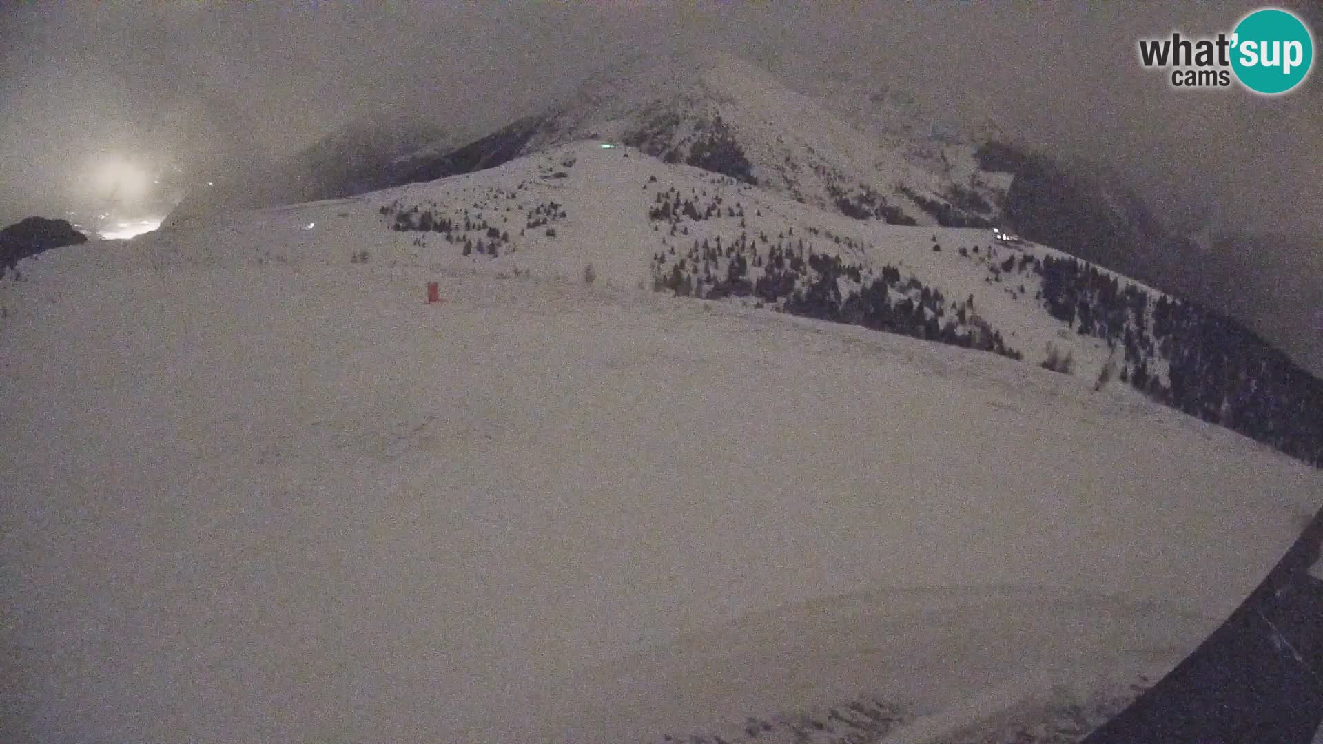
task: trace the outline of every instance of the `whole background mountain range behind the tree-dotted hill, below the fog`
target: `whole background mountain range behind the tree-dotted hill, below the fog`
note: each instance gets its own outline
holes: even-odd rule
[[[722,52],[648,52],[607,66],[570,99],[482,136],[445,120],[380,110],[287,163],[254,167],[202,189],[167,224],[430,181],[598,136],[859,218],[1011,226],[1263,327],[1266,306],[1250,299],[1256,293],[1241,291],[1237,278],[1253,273],[1253,252],[1220,252],[1216,267],[1204,269],[1209,262],[1197,220],[1167,224],[1170,216],[1159,218],[1123,175],[1011,144],[1015,138],[991,122],[963,131],[867,70],[800,78],[796,93]],[[1236,257],[1246,270],[1233,266]],[[1310,290],[1301,286],[1294,294]],[[1308,327],[1299,323],[1273,338],[1307,355],[1316,346]]]

